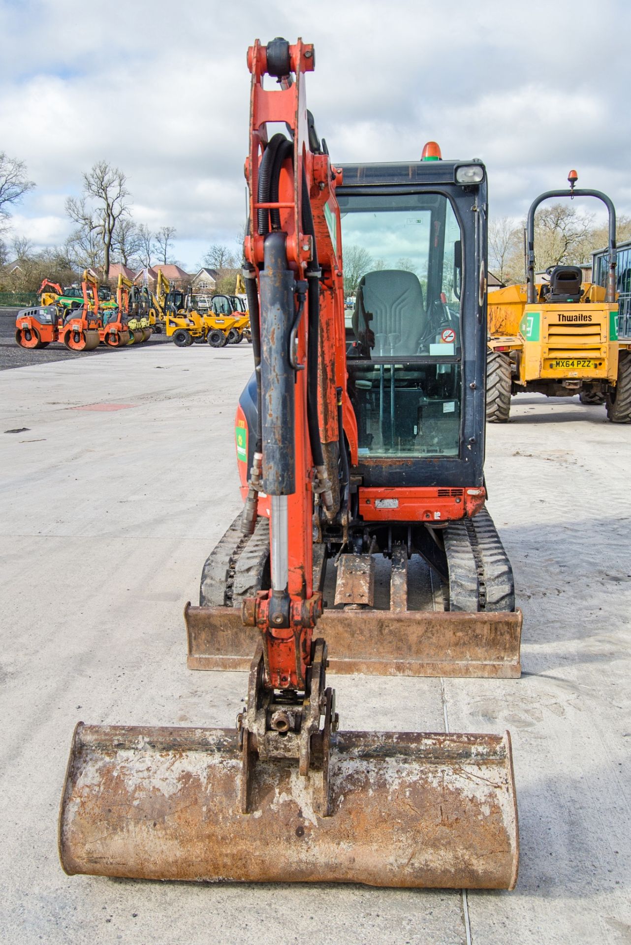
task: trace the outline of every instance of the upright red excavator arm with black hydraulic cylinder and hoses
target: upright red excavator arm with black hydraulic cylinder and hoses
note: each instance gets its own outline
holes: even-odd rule
[[[339,441],[336,412],[328,406],[336,403],[331,388],[338,378],[342,385],[345,369],[343,346],[335,345],[342,272],[334,184],[341,175],[327,154],[311,147],[316,139],[309,136],[303,76],[314,68],[313,46],[255,43],[248,65],[245,275],[262,421],[244,523],[251,530],[258,491],[270,496],[272,587],[247,601],[244,618],[262,633],[264,685],[300,692],[307,685],[322,612],[321,594],[313,588],[312,520],[339,512],[332,487],[337,455],[330,451],[328,470],[323,441]],[[264,89],[265,74],[277,78],[281,94]],[[268,122],[284,123],[289,137],[276,134],[268,141]],[[320,304],[321,297],[326,304]],[[318,370],[320,332],[322,356],[334,366],[327,387]]]

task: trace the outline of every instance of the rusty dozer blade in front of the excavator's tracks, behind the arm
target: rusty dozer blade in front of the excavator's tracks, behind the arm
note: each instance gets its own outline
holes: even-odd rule
[[[241,610],[184,609],[189,669],[247,670],[260,640]],[[332,673],[519,679],[521,611],[325,610]],[[321,629],[320,629],[321,628]]]

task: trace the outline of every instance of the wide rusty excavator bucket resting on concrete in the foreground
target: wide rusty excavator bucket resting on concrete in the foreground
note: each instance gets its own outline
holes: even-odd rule
[[[79,723],[61,800],[62,866],[161,880],[516,884],[507,732],[335,732],[329,771],[331,816],[315,813],[316,772],[260,760],[253,813],[242,814],[235,730]]]

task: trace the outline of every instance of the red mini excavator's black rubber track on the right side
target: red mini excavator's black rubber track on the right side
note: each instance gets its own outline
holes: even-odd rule
[[[445,530],[450,610],[515,610],[513,569],[486,508]]]

